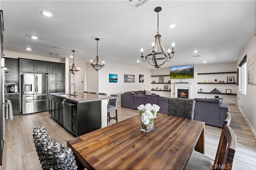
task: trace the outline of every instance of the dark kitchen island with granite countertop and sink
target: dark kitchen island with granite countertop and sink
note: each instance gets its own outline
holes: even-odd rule
[[[49,93],[49,114],[75,136],[107,126],[108,100],[114,96],[78,92]]]

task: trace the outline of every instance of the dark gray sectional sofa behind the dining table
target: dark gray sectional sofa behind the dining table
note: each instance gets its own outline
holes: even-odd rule
[[[146,91],[147,93],[148,91]],[[145,90],[125,92],[121,94],[121,107],[137,109],[141,104],[157,104],[159,113],[168,113],[168,98],[158,94],[146,94]],[[228,104],[218,98],[195,98],[194,120],[204,121],[207,125],[222,127]]]

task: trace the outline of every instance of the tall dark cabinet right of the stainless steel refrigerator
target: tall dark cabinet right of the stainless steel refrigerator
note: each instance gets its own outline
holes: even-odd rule
[[[65,92],[65,64],[49,63],[49,93]]]

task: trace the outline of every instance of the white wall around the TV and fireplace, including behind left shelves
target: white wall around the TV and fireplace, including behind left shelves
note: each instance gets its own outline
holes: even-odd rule
[[[159,76],[159,75],[170,75],[170,67],[164,67],[164,68],[158,68],[158,69],[152,70],[152,76]],[[152,81],[155,80],[156,82],[158,82],[158,78],[159,77],[152,77]],[[169,90],[169,88],[171,88],[171,93],[170,92],[158,92],[158,91],[152,91],[152,92],[159,94],[160,96],[174,98],[174,83],[178,83],[181,81],[180,81],[180,79],[175,79],[175,78],[170,79],[170,77],[165,76],[164,82],[168,82],[168,80],[171,80],[171,85],[168,85],[168,90]],[[192,90],[191,98],[192,99],[196,98],[196,95],[197,95],[197,90],[196,90],[197,65],[194,65],[194,78],[182,79],[182,82],[188,82],[188,83],[192,84],[191,85],[191,90]],[[166,84],[157,84],[157,85],[152,84],[152,88],[155,88],[156,86],[158,86],[158,88],[160,88],[160,86],[161,86],[161,88],[163,88],[164,86],[166,86]]]

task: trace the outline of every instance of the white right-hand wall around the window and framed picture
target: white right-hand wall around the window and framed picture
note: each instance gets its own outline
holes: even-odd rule
[[[246,45],[246,48],[241,53],[240,58],[238,59],[236,66],[247,56],[247,60],[250,59],[256,53],[256,38],[255,33],[252,35],[250,41]],[[256,137],[256,84],[247,84],[246,95],[239,92],[237,89],[237,104],[241,113],[244,115],[247,124],[250,126],[254,137]]]

